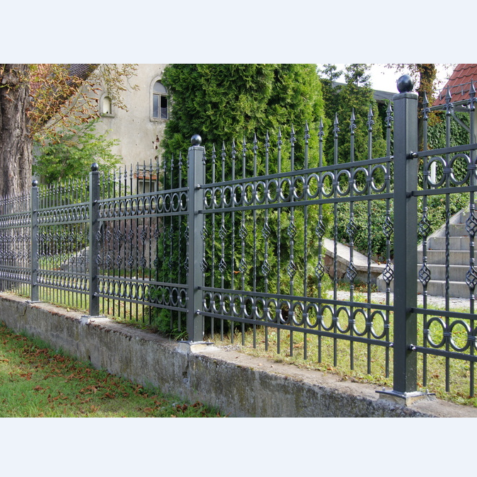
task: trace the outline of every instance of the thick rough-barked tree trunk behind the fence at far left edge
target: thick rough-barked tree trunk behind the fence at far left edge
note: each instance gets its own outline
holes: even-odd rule
[[[28,64],[0,64],[0,196],[26,192],[31,183],[29,77]]]

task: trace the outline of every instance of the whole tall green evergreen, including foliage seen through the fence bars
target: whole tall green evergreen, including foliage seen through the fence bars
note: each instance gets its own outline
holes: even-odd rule
[[[235,141],[237,147],[235,177],[242,177],[242,140],[247,139],[247,149],[251,152],[252,141],[256,134],[259,142],[259,148],[264,148],[266,134],[270,137],[270,163],[269,173],[276,172],[276,147],[277,133],[279,128],[282,134],[281,140],[283,145],[281,171],[289,171],[290,156],[288,151],[291,149],[290,135],[293,126],[296,133],[294,167],[295,169],[303,167],[303,147],[305,134],[305,123],[308,122],[310,130],[308,166],[318,166],[318,127],[320,118],[322,117],[323,100],[321,93],[321,84],[316,73],[316,65],[314,64],[172,64],[164,70],[162,82],[167,86],[169,93],[172,95],[171,119],[167,122],[164,142],[164,160],[168,163],[174,154],[177,158],[179,151],[186,153],[186,149],[190,144],[190,138],[193,134],[200,134],[203,139],[203,146],[207,152],[207,181],[213,180],[211,176],[211,164],[213,159],[213,147],[215,144],[215,154],[217,156],[217,172],[215,181],[221,177],[221,161],[220,151],[225,144],[227,161],[225,162],[225,178],[230,179],[231,161],[230,152],[232,141]],[[263,154],[259,153],[259,158]],[[249,160],[250,159],[250,160]],[[247,155],[246,174],[252,176],[254,172],[252,156]],[[185,162],[183,178],[186,176]],[[257,175],[264,174],[265,166],[262,159],[257,163]],[[169,186],[167,180],[166,186]],[[317,209],[308,211],[308,221],[310,223],[318,222]],[[269,212],[270,217],[276,214],[274,211]],[[263,287],[266,280],[262,273],[262,264],[264,261],[264,237],[261,231],[264,228],[265,212],[259,210],[253,219],[252,214],[247,213],[244,222],[241,222],[241,214],[236,213],[235,219],[232,214],[227,214],[225,229],[235,231],[234,234],[228,234],[225,241],[225,258],[229,264],[225,273],[225,288],[230,287],[235,280],[235,288],[252,289],[252,280],[256,276],[257,287]],[[220,221],[215,223],[215,250],[220,251],[221,239],[218,231],[220,229]],[[209,216],[207,220],[211,220]],[[235,221],[235,222],[234,222]],[[276,217],[270,218],[269,228],[270,236],[276,238],[281,236],[280,256],[281,256],[281,282],[278,286],[276,282],[278,263],[276,256],[278,247],[272,248],[270,245],[268,251],[268,263],[271,270],[267,287],[269,292],[288,293],[291,289],[290,278],[286,272],[290,251],[288,250],[289,237],[287,234],[290,225],[290,214],[284,211],[281,214],[281,220],[278,222]],[[293,224],[296,227],[296,250],[303,248],[304,241],[304,214],[299,207],[296,208]],[[241,234],[241,227],[245,226],[246,234]],[[207,253],[213,247],[213,222],[208,223],[208,229],[211,232],[206,238]],[[253,231],[256,231],[255,235]],[[196,231],[197,233],[197,231]],[[179,236],[184,237],[178,230],[175,231],[176,236],[170,237],[170,243],[165,243],[164,251],[167,247],[177,243]],[[308,240],[312,240],[312,235],[308,232]],[[241,262],[240,241],[245,236],[245,263],[247,270],[244,271],[245,265]],[[255,238],[254,238],[255,236]],[[232,257],[232,240],[235,240],[235,253]],[[182,241],[180,246],[184,247]],[[158,255],[164,255],[161,250],[163,243],[159,244]],[[300,248],[301,247],[301,248]],[[180,253],[179,247],[175,246],[174,252],[177,255],[185,256]],[[253,253],[255,251],[255,260]],[[313,257],[313,251],[315,256]],[[303,277],[306,273],[310,275],[311,282],[316,280],[313,268],[318,258],[318,253],[314,248],[308,256],[308,270],[304,270],[303,256],[296,253],[296,291],[298,292],[298,284],[301,284],[303,290]],[[215,254],[217,260],[218,253]],[[207,256],[208,263],[211,257]],[[220,257],[219,257],[220,258]],[[315,261],[313,261],[315,259]],[[176,258],[174,257],[174,260]],[[233,266],[230,263],[233,262]],[[161,276],[169,276],[170,270],[176,270],[176,262],[172,267],[164,265],[162,271],[159,270],[159,281]],[[206,272],[207,286],[221,286],[220,273],[217,271],[218,264],[215,263],[215,285],[210,270]],[[273,275],[273,276],[272,276]],[[179,277],[184,280],[185,277]],[[242,281],[243,280],[243,281]],[[210,285],[212,284],[212,285]],[[314,284],[315,285],[315,284]],[[162,310],[159,312],[156,324],[163,331],[169,328],[169,312]],[[175,322],[175,320],[174,320]]]

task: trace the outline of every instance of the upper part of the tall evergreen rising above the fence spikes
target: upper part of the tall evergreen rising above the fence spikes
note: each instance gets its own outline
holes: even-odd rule
[[[171,64],[162,81],[173,98],[167,155],[184,150],[193,134],[221,148],[254,134],[264,142],[279,127],[286,134],[293,125],[298,134],[306,121],[310,149],[318,149],[323,100],[315,64]]]

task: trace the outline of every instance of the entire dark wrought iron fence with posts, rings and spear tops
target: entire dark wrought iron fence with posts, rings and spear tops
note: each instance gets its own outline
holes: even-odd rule
[[[337,154],[342,133],[336,120],[330,132],[335,140],[331,160],[323,157],[322,125],[314,132],[319,141],[313,150],[307,125],[301,134],[291,127],[286,138],[279,132],[273,141],[267,135],[261,143],[254,138],[250,144],[224,144],[220,152],[214,147],[207,155],[194,136],[186,161],[179,156],[160,167],[150,163],[109,175],[93,166],[89,180],[47,188],[34,182],[30,196],[0,204],[1,289],[30,294],[33,301],[89,307],[91,316],[148,322],[159,316],[176,331],[186,331],[191,341],[203,340],[204,333],[211,339],[225,333],[233,340],[238,331],[242,343],[250,335],[254,346],[263,342],[287,355],[300,353],[321,362],[330,353],[335,366],[346,355],[352,369],[360,362],[365,374],[374,367],[386,377],[392,373],[389,392],[404,398],[418,384],[432,384],[427,370],[434,357],[444,361],[447,389],[454,363],[464,363],[459,372],[473,396],[474,103],[471,88],[465,105],[468,144],[459,146],[450,146],[447,137],[446,147],[428,149],[425,105],[419,151],[417,95],[403,91],[393,98],[393,110],[389,105],[387,152],[379,158],[371,154],[370,114],[367,157],[355,160],[351,127],[346,163]],[[449,98],[448,126],[451,107]],[[457,163],[464,171],[460,175]],[[427,301],[432,275],[427,267],[427,200],[439,195],[445,203],[449,270],[449,197],[454,194],[468,195],[470,207],[468,311],[451,309],[449,273],[444,309],[432,309]],[[366,210],[366,219],[357,221],[358,205]],[[381,218],[376,205],[384,211]],[[344,299],[337,270],[343,210],[349,245]],[[374,299],[371,276],[376,221],[386,237],[381,301]],[[360,292],[354,246],[359,229],[368,244]],[[334,239],[331,265],[325,264],[325,238]],[[418,280],[422,306],[417,306]]]

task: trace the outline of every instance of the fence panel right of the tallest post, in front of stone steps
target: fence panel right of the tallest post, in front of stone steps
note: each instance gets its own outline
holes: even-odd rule
[[[475,362],[477,361],[477,326],[475,316],[475,288],[477,270],[475,266],[476,217],[476,91],[471,83],[468,100],[452,103],[448,91],[442,108],[429,108],[427,98],[423,103],[423,144],[415,156],[419,158],[422,188],[413,192],[422,203],[419,231],[420,245],[419,280],[422,286],[422,306],[415,313],[420,321],[422,333],[413,349],[422,354],[422,384],[432,385],[435,376],[430,374],[430,362],[442,364],[446,391],[455,387],[454,376],[468,378],[468,393],[475,393]],[[430,147],[427,122],[431,110],[441,109],[440,120],[445,125],[445,144],[439,149]],[[451,129],[452,117],[460,111],[468,117],[468,144],[455,145]],[[465,127],[465,125],[464,125]],[[444,204],[444,226],[439,234],[430,234],[432,204],[439,200]],[[430,205],[431,204],[431,205]],[[455,209],[455,205],[459,207]],[[464,207],[459,215],[456,212]],[[454,219],[453,219],[454,216]],[[459,218],[461,220],[459,221]],[[459,223],[461,222],[461,223]],[[433,241],[433,242],[431,242]],[[439,253],[441,265],[430,265],[431,253]],[[456,278],[456,275],[459,277]],[[436,309],[429,303],[429,288],[432,280],[442,283],[444,304]],[[459,282],[464,282],[460,284]],[[461,287],[459,296],[468,298],[468,312],[451,304],[451,287]],[[463,392],[463,391],[461,391]]]

